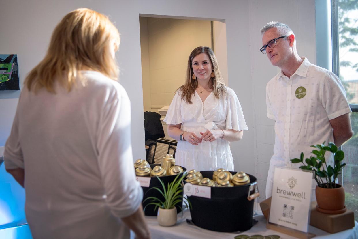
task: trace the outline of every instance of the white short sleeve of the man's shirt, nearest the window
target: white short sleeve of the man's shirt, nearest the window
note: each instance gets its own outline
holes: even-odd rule
[[[324,77],[320,98],[329,120],[351,112],[342,82],[332,72]]]

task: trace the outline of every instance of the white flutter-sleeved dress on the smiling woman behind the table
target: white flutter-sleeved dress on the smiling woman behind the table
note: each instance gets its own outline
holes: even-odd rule
[[[170,104],[164,121],[167,124],[182,124],[181,129],[194,132],[201,137],[211,129],[247,130],[240,102],[235,92],[227,87],[227,95],[217,99],[213,92],[203,102],[195,91],[192,104],[182,100],[177,91]],[[224,168],[234,170],[234,162],[229,142],[218,138],[213,142],[203,141],[192,145],[188,141],[178,141],[175,163],[188,170],[211,171]]]

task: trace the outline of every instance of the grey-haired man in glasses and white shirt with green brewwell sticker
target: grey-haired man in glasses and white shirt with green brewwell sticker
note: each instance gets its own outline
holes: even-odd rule
[[[311,156],[310,145],[324,141],[342,145],[352,137],[350,107],[339,78],[300,57],[296,37],[289,26],[271,21],[261,28],[260,51],[281,69],[266,85],[267,117],[275,120],[274,155],[266,182],[271,196],[275,166],[298,168],[290,159]],[[333,155],[326,153],[328,162]],[[315,199],[315,185],[312,197]]]

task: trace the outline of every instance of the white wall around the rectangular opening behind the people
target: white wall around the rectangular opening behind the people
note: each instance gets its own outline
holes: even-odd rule
[[[110,15],[122,36],[117,57],[121,83],[132,102],[134,158],[145,158],[139,15],[224,20],[229,87],[238,95],[249,126],[243,139],[231,144],[235,169],[257,175],[260,191],[264,193],[265,162],[274,143],[273,122],[266,119],[264,107],[265,85],[277,69],[258,51],[262,46],[259,31],[271,20],[289,24],[297,36],[299,54],[315,63],[314,3],[314,0],[2,1],[0,22],[8,27],[6,34],[1,34],[0,52],[18,54],[22,84],[26,73],[43,58],[52,30],[67,12],[88,7]],[[0,145],[9,135],[17,103],[17,99],[2,98],[0,93]]]

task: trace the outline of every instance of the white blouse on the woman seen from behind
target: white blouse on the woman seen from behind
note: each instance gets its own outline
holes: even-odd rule
[[[143,191],[135,180],[130,101],[99,72],[71,92],[26,87],[5,145],[6,169],[24,168],[26,219],[34,238],[129,238],[120,218]]]

